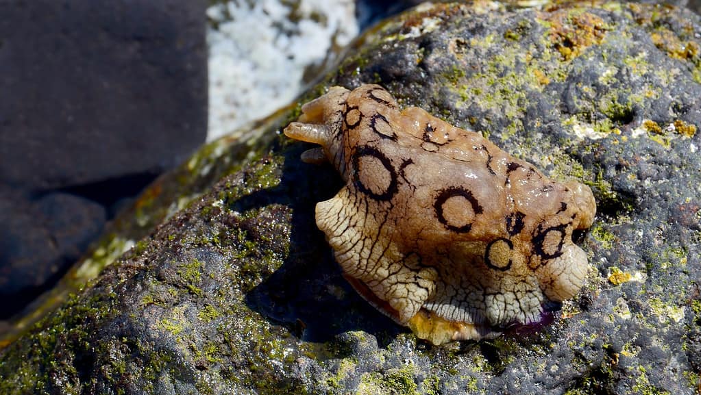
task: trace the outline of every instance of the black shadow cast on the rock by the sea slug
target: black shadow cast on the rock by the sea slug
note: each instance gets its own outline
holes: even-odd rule
[[[246,305],[309,342],[326,342],[346,331],[365,331],[389,342],[401,331],[341,276],[332,251],[314,222],[316,202],[332,198],[341,178],[330,165],[301,162],[298,144],[285,154],[280,185],[232,204],[237,212],[269,204],[292,209],[290,251],[285,263],[245,296]]]

